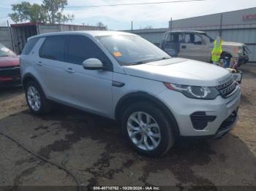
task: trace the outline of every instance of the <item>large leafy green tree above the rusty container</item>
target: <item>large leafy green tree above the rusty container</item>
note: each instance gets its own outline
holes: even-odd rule
[[[42,4],[30,4],[23,1],[12,4],[13,13],[9,14],[15,23],[30,21],[41,23],[64,23],[74,19],[74,15],[64,15],[62,12],[67,0],[43,0]]]

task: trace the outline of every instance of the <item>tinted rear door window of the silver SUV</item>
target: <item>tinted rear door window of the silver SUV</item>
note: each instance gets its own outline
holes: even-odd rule
[[[45,39],[40,50],[40,57],[56,61],[65,60],[66,36],[49,36]]]

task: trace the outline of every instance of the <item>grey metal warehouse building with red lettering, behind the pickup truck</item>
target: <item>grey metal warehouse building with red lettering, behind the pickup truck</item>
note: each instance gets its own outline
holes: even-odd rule
[[[252,51],[249,55],[249,61],[256,62],[256,7],[172,20],[169,22],[169,28],[133,30],[132,33],[159,45],[163,34],[168,30],[206,31],[212,38],[220,34],[224,41],[246,44]]]

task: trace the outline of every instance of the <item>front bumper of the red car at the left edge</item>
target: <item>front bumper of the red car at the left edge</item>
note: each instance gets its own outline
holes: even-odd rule
[[[0,68],[0,87],[21,85],[20,67]]]

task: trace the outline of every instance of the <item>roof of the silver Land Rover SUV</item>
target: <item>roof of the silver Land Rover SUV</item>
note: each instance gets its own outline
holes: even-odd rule
[[[64,31],[64,32],[54,32],[47,34],[39,34],[36,36],[31,36],[29,39],[46,37],[46,36],[56,36],[56,35],[69,35],[69,34],[86,34],[87,36],[111,36],[111,35],[135,35],[121,31]]]

